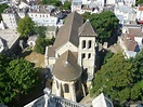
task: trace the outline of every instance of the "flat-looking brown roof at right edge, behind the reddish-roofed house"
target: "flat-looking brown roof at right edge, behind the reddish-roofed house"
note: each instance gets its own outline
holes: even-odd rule
[[[133,35],[134,37],[143,37],[143,32],[141,28],[128,28],[129,34]]]

